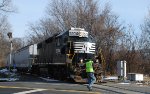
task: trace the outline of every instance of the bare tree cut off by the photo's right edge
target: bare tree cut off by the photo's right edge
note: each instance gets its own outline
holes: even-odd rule
[[[140,38],[140,54],[143,60],[141,65],[145,74],[150,75],[150,10],[147,17],[145,17],[144,23],[141,25],[141,38]]]

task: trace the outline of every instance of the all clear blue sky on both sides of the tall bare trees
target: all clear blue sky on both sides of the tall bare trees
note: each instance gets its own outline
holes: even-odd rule
[[[23,38],[28,32],[28,24],[35,23],[46,14],[46,6],[50,0],[12,0],[17,13],[9,16],[13,36]],[[109,3],[112,12],[119,16],[123,24],[132,24],[137,34],[144,17],[148,15],[150,0],[101,0],[102,4]]]

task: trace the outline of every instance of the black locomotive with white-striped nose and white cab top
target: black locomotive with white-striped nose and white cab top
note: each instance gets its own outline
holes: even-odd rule
[[[31,73],[82,82],[86,80],[84,61],[95,56],[95,41],[84,29],[71,28],[38,43],[36,50],[37,55],[29,55],[32,59],[26,63]]]

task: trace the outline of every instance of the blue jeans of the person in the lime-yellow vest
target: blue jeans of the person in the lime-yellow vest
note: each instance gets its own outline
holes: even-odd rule
[[[88,76],[88,84],[89,84],[88,87],[92,89],[93,84],[96,82],[96,78],[93,72],[88,72],[87,76]]]

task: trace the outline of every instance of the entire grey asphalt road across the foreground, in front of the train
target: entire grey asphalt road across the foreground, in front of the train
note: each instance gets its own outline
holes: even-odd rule
[[[66,83],[57,80],[23,75],[19,81],[0,82],[0,94],[150,94],[149,86],[106,83],[94,85],[88,91],[86,84]]]

